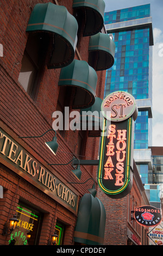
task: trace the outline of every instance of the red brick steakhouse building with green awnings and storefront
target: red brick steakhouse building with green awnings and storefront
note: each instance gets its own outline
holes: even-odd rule
[[[114,63],[105,45],[112,41],[103,27],[103,0],[91,0],[88,6],[75,0],[6,0],[0,6],[0,244],[52,245],[55,231],[60,245],[110,245],[115,240],[108,232],[117,220],[116,244],[127,243],[128,227],[142,242],[144,233],[135,231],[129,218],[132,207],[127,206],[146,202],[137,174],[122,208],[115,200],[110,209],[109,198],[103,200],[98,191],[111,216],[111,224],[106,216],[105,241],[104,234],[76,230],[81,198],[86,195],[87,204],[102,205],[88,192],[92,179],[97,188],[97,166],[80,166],[79,181],[71,172],[76,169],[73,157],[97,160],[100,133],[64,126],[57,130],[55,156],[45,145],[55,137],[56,111],[70,125],[72,111],[80,113],[103,99],[105,70]],[[18,222],[11,233],[8,224],[14,215]]]

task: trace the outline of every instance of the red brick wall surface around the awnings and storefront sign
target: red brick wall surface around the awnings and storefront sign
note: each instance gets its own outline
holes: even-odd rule
[[[0,120],[12,131],[17,137],[19,136],[39,136],[48,129],[52,129],[52,113],[57,106],[59,87],[58,80],[60,69],[48,70],[45,66],[39,94],[33,101],[28,93],[18,82],[18,75],[21,70],[21,61],[26,47],[28,34],[26,28],[30,14],[37,3],[49,1],[41,0],[4,0],[0,3],[0,44],[3,45],[3,57],[0,57]],[[65,5],[67,10],[72,14],[72,3],[70,1],[51,1],[52,3]],[[88,60],[89,37],[81,39],[80,48],[77,49],[75,58]],[[83,47],[84,46],[84,47]],[[105,71],[97,71],[97,91],[99,97],[103,97]],[[44,137],[33,139],[22,139],[45,163],[67,163],[73,155],[78,157],[77,144],[78,131],[68,131],[66,139],[62,138],[57,132],[59,150],[57,157],[49,152],[44,141],[51,141],[54,136],[53,132],[46,133]],[[93,150],[92,150],[93,145]],[[85,145],[85,159],[97,159],[99,138],[87,138]],[[77,181],[71,174],[71,165],[52,167],[52,172],[63,176],[67,182]],[[97,167],[81,167],[81,182],[93,177],[96,179]],[[0,201],[0,230],[3,229],[4,222],[8,217],[15,214],[16,205],[20,198],[35,205],[38,209],[48,212],[43,218],[42,230],[40,236],[40,245],[47,244],[51,234],[52,223],[55,225],[57,217],[62,222],[70,226],[66,230],[65,244],[73,243],[73,229],[76,222],[76,216],[64,209],[61,205],[56,204],[54,200],[43,194],[28,182],[12,173],[9,169],[0,166],[0,184],[4,186],[4,198]],[[97,180],[97,179],[96,179]],[[83,185],[72,185],[79,192],[80,197],[87,193],[87,188],[92,186],[92,181]],[[15,196],[14,193],[16,192]],[[13,202],[12,202],[13,201]],[[10,205],[12,205],[10,210]],[[55,217],[54,217],[55,216]],[[2,233],[2,232],[1,232]],[[70,235],[71,234],[71,235]],[[8,244],[6,237],[0,235],[1,244]]]

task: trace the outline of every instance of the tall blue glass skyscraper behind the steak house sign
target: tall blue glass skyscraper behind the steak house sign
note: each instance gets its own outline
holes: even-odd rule
[[[105,13],[105,29],[115,42],[115,63],[106,71],[104,97],[117,90],[137,102],[134,160],[142,182],[152,172],[152,17],[150,4]]]

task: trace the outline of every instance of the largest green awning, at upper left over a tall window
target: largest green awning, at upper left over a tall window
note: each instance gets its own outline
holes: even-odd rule
[[[77,20],[64,6],[53,3],[36,4],[26,29],[51,36],[51,58],[48,68],[62,68],[72,62],[77,44]]]

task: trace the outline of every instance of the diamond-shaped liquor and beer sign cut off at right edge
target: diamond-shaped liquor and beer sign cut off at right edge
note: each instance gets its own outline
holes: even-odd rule
[[[163,245],[163,228],[161,224],[152,228],[148,234],[148,238],[154,243],[154,245]]]

